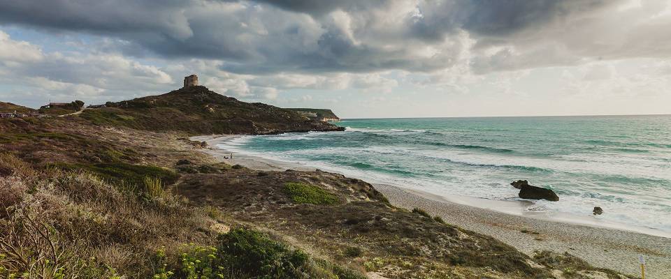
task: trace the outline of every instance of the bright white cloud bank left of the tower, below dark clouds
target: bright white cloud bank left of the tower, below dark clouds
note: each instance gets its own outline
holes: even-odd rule
[[[0,80],[27,86],[47,97],[89,101],[132,97],[173,87],[170,75],[156,66],[120,54],[43,52],[0,31]],[[15,99],[22,98],[16,96]],[[22,95],[22,94],[21,94]],[[34,95],[34,94],[33,94]]]

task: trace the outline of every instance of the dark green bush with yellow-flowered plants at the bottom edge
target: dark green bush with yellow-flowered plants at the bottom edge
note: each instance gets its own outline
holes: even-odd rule
[[[363,279],[356,271],[311,259],[252,229],[237,228],[221,234],[217,246],[180,246],[176,262],[165,250],[157,252],[159,269],[154,278],[329,278]]]

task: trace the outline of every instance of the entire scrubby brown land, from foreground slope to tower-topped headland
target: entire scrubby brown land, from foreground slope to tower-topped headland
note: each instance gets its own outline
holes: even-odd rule
[[[633,278],[523,252],[366,181],[250,169],[188,139],[308,130],[342,128],[204,86],[0,119],[0,276]]]

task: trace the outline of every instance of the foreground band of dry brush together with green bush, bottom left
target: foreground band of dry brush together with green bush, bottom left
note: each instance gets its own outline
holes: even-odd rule
[[[211,227],[225,213],[187,205],[161,179],[145,178],[137,193],[1,158],[0,278],[363,278],[252,229],[219,234]],[[184,256],[185,243],[222,252]]]

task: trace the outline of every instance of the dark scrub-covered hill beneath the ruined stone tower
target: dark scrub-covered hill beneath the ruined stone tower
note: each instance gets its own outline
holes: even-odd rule
[[[245,103],[205,86],[192,86],[159,96],[147,96],[82,113],[98,125],[139,130],[184,131],[192,135],[266,135],[310,130],[342,130],[291,110],[263,103]]]

